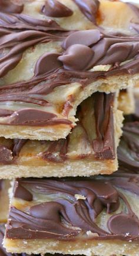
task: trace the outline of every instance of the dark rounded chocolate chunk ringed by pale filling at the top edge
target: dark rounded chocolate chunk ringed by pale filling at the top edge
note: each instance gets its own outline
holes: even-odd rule
[[[73,14],[72,10],[57,0],[47,0],[42,7],[43,14],[48,17],[68,17]]]

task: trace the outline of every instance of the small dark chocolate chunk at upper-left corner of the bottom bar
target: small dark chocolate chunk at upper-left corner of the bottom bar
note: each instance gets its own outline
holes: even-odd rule
[[[33,200],[33,196],[31,194],[31,192],[29,192],[29,190],[27,190],[25,187],[23,187],[17,181],[15,182],[15,186],[14,186],[14,196],[16,198],[26,200],[28,202]]]

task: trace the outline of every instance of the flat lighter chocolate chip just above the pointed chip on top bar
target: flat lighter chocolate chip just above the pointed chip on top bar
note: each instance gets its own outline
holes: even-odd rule
[[[62,43],[62,47],[66,50],[72,44],[84,44],[84,46],[91,46],[91,44],[97,43],[102,37],[99,30],[82,30],[76,31],[67,38]]]

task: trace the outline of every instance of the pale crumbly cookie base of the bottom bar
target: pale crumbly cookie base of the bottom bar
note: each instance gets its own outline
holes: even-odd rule
[[[35,240],[4,240],[4,247],[8,252],[26,252],[27,254],[61,253],[83,254],[87,256],[138,256],[138,242],[125,242],[118,240],[94,241],[91,239],[76,239],[75,241],[58,241],[49,239]]]

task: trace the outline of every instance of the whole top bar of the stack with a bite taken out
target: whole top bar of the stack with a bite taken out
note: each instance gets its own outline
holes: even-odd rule
[[[102,6],[113,11],[109,1],[21,2],[0,5],[0,133],[65,138],[85,98],[138,80],[139,36],[97,27]],[[137,21],[130,6],[117,2],[117,10],[120,5]],[[107,27],[110,20],[112,27],[107,16],[99,25]]]

